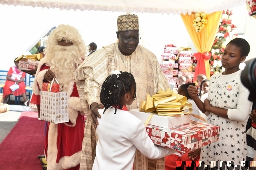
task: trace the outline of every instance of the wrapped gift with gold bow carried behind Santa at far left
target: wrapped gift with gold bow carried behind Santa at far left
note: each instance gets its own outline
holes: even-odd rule
[[[32,70],[36,69],[39,65],[39,60],[42,59],[42,54],[34,54],[34,55],[22,55],[16,59],[19,60],[19,69],[20,70]]]

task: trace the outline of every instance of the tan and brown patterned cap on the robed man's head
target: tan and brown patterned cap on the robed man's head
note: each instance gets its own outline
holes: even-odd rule
[[[118,32],[139,31],[139,18],[135,14],[124,14],[117,18]]]

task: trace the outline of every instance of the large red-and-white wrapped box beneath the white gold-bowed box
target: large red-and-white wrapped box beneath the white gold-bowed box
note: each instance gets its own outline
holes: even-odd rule
[[[146,131],[154,144],[183,153],[217,142],[220,136],[219,126],[192,120],[172,128],[146,125]]]

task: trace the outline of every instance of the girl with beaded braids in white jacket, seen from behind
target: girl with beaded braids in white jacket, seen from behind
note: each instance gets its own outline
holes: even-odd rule
[[[136,83],[131,73],[113,71],[102,84],[98,110],[101,118],[96,128],[98,142],[92,170],[132,170],[135,151],[148,158],[162,158],[176,151],[156,146],[144,123],[128,112],[136,97]]]

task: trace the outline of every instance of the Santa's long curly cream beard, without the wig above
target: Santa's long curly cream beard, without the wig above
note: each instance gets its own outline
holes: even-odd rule
[[[54,72],[56,79],[68,91],[68,83],[74,81],[74,71],[78,62],[78,49],[75,45],[54,47],[51,55],[50,69]]]

